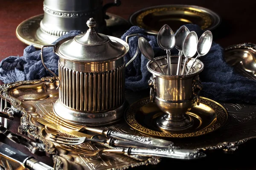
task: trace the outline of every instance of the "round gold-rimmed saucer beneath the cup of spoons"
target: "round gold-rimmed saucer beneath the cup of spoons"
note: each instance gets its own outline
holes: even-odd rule
[[[219,103],[201,97],[200,105],[196,105],[187,114],[193,120],[193,126],[186,131],[170,132],[159,129],[156,119],[163,112],[149,98],[131,104],[125,113],[125,121],[136,130],[148,136],[185,138],[201,136],[222,127],[227,121],[227,110]]]

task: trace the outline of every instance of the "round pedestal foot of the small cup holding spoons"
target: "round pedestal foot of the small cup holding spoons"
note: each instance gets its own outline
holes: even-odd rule
[[[186,113],[181,116],[172,116],[171,114],[164,114],[157,119],[157,127],[161,130],[167,131],[184,131],[188,130],[193,126],[193,120],[186,115]]]

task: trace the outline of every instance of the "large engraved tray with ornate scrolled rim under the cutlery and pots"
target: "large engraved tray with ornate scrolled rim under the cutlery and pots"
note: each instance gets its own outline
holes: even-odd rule
[[[39,80],[20,81],[0,85],[0,96],[12,105],[15,112],[20,111],[23,116],[20,119],[19,133],[26,134],[32,139],[45,144],[45,152],[55,162],[55,168],[65,169],[127,169],[141,165],[157,164],[160,159],[149,158],[145,161],[137,161],[120,154],[106,154],[100,157],[79,156],[67,152],[61,147],[55,146],[44,138],[44,127],[36,120],[38,117],[52,111],[53,103],[58,99],[58,82],[54,77],[45,77]],[[129,104],[138,99],[148,97],[149,91],[126,91],[125,96]],[[224,126],[214,132],[188,138],[167,138],[182,148],[198,148],[201,150],[223,150],[232,153],[240,144],[256,137],[256,105],[241,105],[220,103],[228,111],[228,120]],[[102,127],[102,129],[105,127]],[[130,127],[125,120],[121,120],[107,128],[113,128],[120,132],[134,135],[143,135]],[[88,144],[85,147],[94,147]],[[57,153],[57,154],[56,154]]]

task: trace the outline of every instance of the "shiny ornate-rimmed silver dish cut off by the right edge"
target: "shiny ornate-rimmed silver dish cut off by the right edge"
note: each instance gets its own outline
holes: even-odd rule
[[[256,44],[230,45],[224,49],[224,59],[241,75],[256,80]]]

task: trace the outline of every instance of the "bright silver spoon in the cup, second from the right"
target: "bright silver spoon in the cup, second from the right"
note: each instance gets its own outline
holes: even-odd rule
[[[184,74],[186,63],[189,58],[194,57],[196,51],[197,51],[197,43],[198,43],[198,36],[195,33],[195,31],[189,32],[189,34],[186,36],[184,43],[183,43],[183,54],[185,56],[185,60],[183,63],[183,68],[181,71],[181,75]]]

